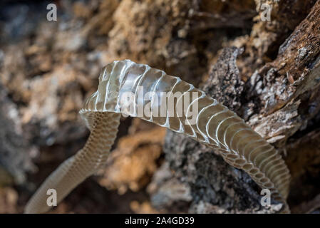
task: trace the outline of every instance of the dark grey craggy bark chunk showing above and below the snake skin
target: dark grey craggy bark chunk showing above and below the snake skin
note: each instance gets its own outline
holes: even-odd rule
[[[225,48],[203,87],[212,98],[237,113],[240,113],[240,98],[244,90],[244,83],[236,66],[236,58],[240,53],[241,50],[238,48]],[[172,196],[170,187],[162,187],[174,181],[177,185],[174,193],[182,192],[185,198],[180,200],[190,202],[190,206],[187,206],[188,212],[272,213],[281,209],[277,202],[274,202],[271,208],[261,208],[259,187],[251,177],[242,170],[227,165],[220,155],[212,152],[212,149],[183,135],[168,132],[164,150],[169,164],[167,167],[175,172],[174,175],[165,177],[165,180],[155,180],[158,187],[150,189],[153,204],[158,207],[172,209],[173,202],[179,199],[175,195]]]

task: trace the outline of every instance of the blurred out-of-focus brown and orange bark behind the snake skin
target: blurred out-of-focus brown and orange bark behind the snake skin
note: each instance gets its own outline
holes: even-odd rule
[[[83,147],[89,131],[78,111],[107,63],[129,58],[203,86],[222,48],[236,46],[247,81],[277,58],[314,3],[276,4],[266,22],[254,0],[1,1],[0,213],[23,212],[41,182]],[[56,20],[48,4],[56,6]],[[143,120],[122,119],[105,169],[52,212],[167,212],[153,197],[169,172],[165,134]],[[187,212],[190,195],[176,195],[175,182],[165,187],[185,202],[173,212]]]

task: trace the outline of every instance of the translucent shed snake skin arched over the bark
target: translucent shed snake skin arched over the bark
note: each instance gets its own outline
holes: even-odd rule
[[[159,115],[157,105],[160,104],[155,102],[150,105],[150,115],[138,115],[139,105],[146,105],[146,101],[138,97],[139,86],[143,88],[143,95],[150,91],[160,97],[162,92],[181,92],[182,95],[174,100],[172,107],[166,106],[165,117]],[[134,95],[134,99],[131,103],[133,108],[127,111],[120,98],[128,92]],[[190,123],[185,114],[177,115],[182,96],[187,92],[199,94],[196,98],[190,98],[187,107],[188,112],[192,104],[197,102],[195,123]],[[173,115],[169,115],[169,112]],[[244,170],[260,187],[269,189],[272,198],[284,204],[282,212],[289,212],[286,202],[289,170],[272,145],[244,123],[242,118],[191,84],[148,65],[125,60],[109,63],[101,71],[98,90],[80,110],[81,117],[91,130],[86,145],[47,177],[26,205],[26,213],[47,212],[51,209],[46,204],[48,189],[56,190],[57,201],[60,202],[83,180],[105,165],[118,132],[121,113],[139,116],[218,150],[229,165]]]

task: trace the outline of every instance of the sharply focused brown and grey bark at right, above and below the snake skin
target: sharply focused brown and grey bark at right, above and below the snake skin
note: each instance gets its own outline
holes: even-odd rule
[[[316,1],[306,18],[279,47],[277,58],[258,68],[245,82],[236,64],[243,50],[225,48],[202,88],[283,151],[293,175],[291,206],[306,198],[317,199],[319,194],[317,177],[310,177],[310,172],[304,170],[307,165],[316,164],[318,168],[312,171],[319,175],[319,160],[296,159],[316,157],[319,150],[306,148],[309,152],[297,155],[299,145],[292,145],[296,140],[304,143],[317,140],[306,138],[306,133],[316,135],[314,130],[319,128],[316,127],[320,110],[319,23],[320,1]],[[239,56],[239,59],[243,58]],[[277,202],[271,207],[262,207],[259,187],[245,172],[225,164],[217,152],[172,132],[167,133],[164,150],[167,161],[149,186],[155,207],[198,213],[274,213],[279,210]],[[301,190],[302,182],[309,184],[308,190]]]

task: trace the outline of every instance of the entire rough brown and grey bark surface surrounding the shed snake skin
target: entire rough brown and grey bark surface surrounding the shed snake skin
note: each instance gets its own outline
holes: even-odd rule
[[[320,1],[56,1],[58,21],[47,21],[49,3],[0,3],[0,212],[22,212],[83,146],[78,110],[100,68],[123,58],[180,76],[234,110],[282,152],[292,211],[319,212]],[[262,4],[272,6],[270,21]],[[108,167],[53,212],[279,211],[260,197],[217,152],[128,118]]]

